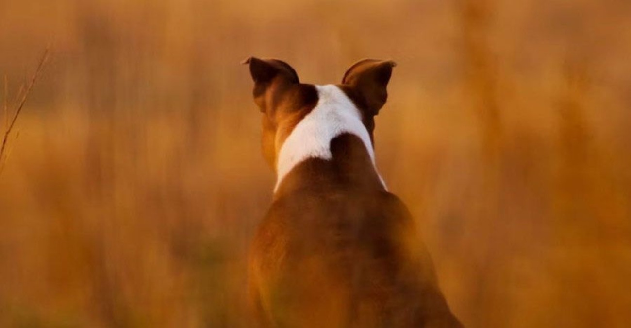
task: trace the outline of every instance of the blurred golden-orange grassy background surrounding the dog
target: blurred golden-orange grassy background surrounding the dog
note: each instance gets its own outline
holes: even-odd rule
[[[0,0],[9,118],[49,44],[0,163],[0,327],[251,326],[249,56],[397,61],[377,164],[468,327],[631,322],[630,1]]]

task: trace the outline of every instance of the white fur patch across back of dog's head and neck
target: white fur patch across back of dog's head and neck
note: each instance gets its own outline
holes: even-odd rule
[[[315,88],[319,96],[317,105],[293,128],[278,153],[278,178],[274,192],[278,190],[285,176],[300,162],[311,158],[333,159],[331,140],[342,133],[359,137],[366,146],[373,166],[375,165],[375,152],[359,109],[336,85],[316,85]],[[379,179],[386,188],[381,176]]]

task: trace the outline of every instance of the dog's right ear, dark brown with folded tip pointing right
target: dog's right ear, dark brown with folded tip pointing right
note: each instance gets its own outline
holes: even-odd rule
[[[353,64],[342,78],[342,84],[348,85],[360,102],[372,115],[386,104],[388,93],[386,87],[392,75],[394,61],[379,59],[363,59]]]

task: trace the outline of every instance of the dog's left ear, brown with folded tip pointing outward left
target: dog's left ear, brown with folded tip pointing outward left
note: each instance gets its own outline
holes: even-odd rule
[[[279,101],[280,95],[291,85],[300,83],[296,71],[289,64],[278,59],[251,57],[242,64],[249,64],[254,80],[254,102],[261,112],[268,112]]]

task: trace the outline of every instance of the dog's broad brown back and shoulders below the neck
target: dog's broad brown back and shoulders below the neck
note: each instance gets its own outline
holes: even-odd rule
[[[459,327],[414,232],[385,191],[277,200],[253,247],[260,314],[274,327]]]

